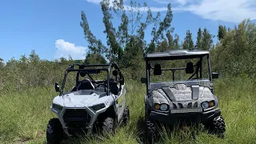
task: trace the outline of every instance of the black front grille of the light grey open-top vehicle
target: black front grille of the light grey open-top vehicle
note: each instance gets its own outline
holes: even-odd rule
[[[85,109],[66,109],[63,114],[66,126],[86,126],[90,119],[90,114]]]

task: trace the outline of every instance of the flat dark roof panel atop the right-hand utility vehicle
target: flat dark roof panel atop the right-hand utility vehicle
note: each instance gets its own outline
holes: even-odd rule
[[[208,50],[166,50],[164,52],[155,52],[145,54],[147,60],[171,60],[171,59],[186,59],[200,58],[209,55]]]

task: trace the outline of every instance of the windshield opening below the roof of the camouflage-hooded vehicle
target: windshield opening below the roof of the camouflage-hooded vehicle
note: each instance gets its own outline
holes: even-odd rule
[[[203,58],[150,61],[150,67],[150,82],[175,82],[209,79],[210,77],[206,56]]]

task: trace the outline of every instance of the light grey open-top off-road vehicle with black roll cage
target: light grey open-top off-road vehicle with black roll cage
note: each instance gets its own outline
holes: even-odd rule
[[[55,90],[60,94],[50,109],[58,118],[50,119],[47,125],[47,143],[59,143],[63,136],[93,134],[98,130],[113,132],[119,124],[129,123],[124,77],[115,63],[72,64],[66,70],[61,90],[58,83]]]

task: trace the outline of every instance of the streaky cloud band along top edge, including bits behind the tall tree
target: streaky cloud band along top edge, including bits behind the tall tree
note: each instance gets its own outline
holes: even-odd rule
[[[99,3],[101,0],[86,0]],[[114,0],[110,0],[112,2]],[[245,18],[256,19],[256,0],[152,0],[172,5],[174,12],[190,12],[202,18],[223,22],[241,22]],[[130,7],[130,6],[125,6]],[[166,11],[165,7],[150,6],[152,12]],[[144,8],[142,9],[144,10]]]

